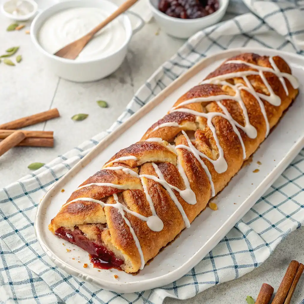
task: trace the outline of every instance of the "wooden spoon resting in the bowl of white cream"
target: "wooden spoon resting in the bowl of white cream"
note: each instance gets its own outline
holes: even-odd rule
[[[137,0],[127,0],[119,8],[108,18],[98,24],[94,29],[92,29],[85,36],[79,38],[78,40],[66,45],[59,51],[57,51],[54,55],[67,59],[75,59],[82,49],[87,45],[87,43],[93,38],[93,36],[99,32],[103,27],[105,27],[108,23],[118,17],[120,14],[129,9]]]

